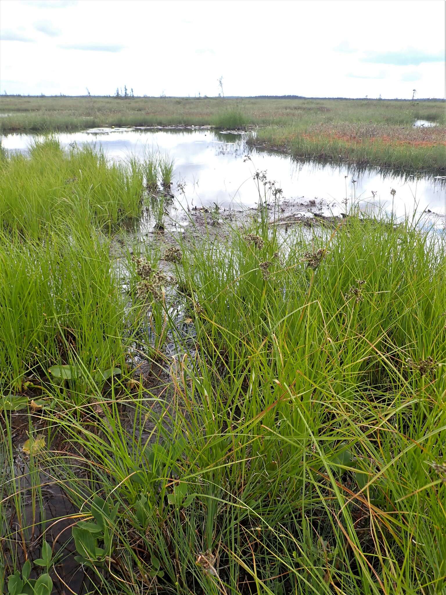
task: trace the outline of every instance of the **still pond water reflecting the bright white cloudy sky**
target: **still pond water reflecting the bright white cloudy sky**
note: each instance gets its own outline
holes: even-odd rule
[[[314,205],[324,214],[346,210],[343,201],[359,203],[365,210],[385,208],[398,217],[416,208],[423,224],[444,227],[446,184],[441,176],[414,177],[404,173],[367,168],[357,170],[333,162],[292,159],[278,152],[247,146],[243,133],[222,132],[206,127],[187,129],[102,128],[58,134],[62,146],[88,143],[102,148],[106,156],[125,161],[131,156],[143,159],[150,151],[168,154],[175,162],[174,183],[186,184],[182,206],[213,206],[225,209],[252,208],[258,202],[253,174],[266,171],[283,190],[287,204]],[[2,145],[10,151],[26,152],[34,136],[8,134]],[[250,156],[250,161],[244,159]],[[392,193],[392,190],[395,192]],[[321,206],[322,205],[322,206]],[[348,208],[348,207],[347,207]],[[313,209],[314,211],[314,209]]]

